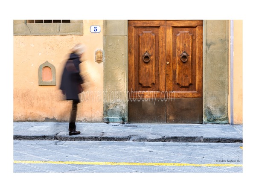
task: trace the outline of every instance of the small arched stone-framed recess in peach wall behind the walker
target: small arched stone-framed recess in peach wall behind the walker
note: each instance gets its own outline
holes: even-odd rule
[[[56,70],[48,61],[38,68],[38,85],[56,85]]]

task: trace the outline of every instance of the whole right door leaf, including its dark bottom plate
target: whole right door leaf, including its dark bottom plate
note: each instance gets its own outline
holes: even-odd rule
[[[167,123],[203,122],[203,21],[166,21]]]

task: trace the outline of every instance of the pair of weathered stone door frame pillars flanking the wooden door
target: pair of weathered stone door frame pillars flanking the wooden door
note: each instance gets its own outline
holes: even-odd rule
[[[108,26],[108,27],[107,27]],[[109,27],[111,26],[111,27]],[[229,123],[229,20],[203,20],[203,122]],[[111,45],[120,51],[113,52]],[[128,92],[128,20],[103,20],[103,91]],[[221,52],[221,55],[219,53]],[[119,59],[116,59],[119,58]],[[118,67],[117,67],[118,66]],[[213,69],[213,68],[216,68]],[[221,70],[218,70],[221,69]],[[120,72],[121,70],[121,72]],[[111,73],[108,73],[111,72]],[[119,74],[122,83],[108,79]],[[221,76],[221,78],[220,78]],[[216,86],[221,84],[221,86]],[[115,110],[111,106],[115,106]],[[128,100],[104,98],[103,122],[127,122]]]

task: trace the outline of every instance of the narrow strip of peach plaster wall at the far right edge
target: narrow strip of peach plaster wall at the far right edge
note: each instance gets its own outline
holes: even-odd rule
[[[243,123],[243,21],[234,20],[233,28],[233,124],[236,125]]]

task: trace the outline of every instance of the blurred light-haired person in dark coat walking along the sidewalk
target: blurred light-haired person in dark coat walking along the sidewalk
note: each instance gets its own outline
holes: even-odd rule
[[[60,89],[65,95],[66,100],[73,101],[68,127],[69,135],[80,134],[80,131],[76,131],[76,114],[77,104],[80,102],[78,94],[82,91],[81,84],[83,83],[83,79],[80,75],[79,64],[81,63],[80,59],[84,51],[85,47],[83,44],[76,44],[71,49],[70,57],[65,64],[61,77]]]

